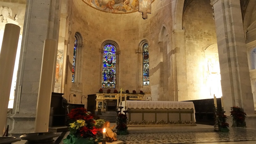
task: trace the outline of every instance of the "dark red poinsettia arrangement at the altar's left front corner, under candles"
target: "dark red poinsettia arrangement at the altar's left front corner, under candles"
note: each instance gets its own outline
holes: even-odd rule
[[[128,130],[127,130],[127,114],[122,114],[122,113],[119,113],[118,114],[118,119],[117,119],[117,134],[120,134],[120,135],[126,135],[128,134]]]

